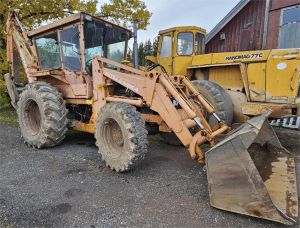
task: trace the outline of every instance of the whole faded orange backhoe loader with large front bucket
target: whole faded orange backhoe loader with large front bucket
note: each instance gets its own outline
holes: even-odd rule
[[[147,130],[173,132],[206,163],[212,206],[297,222],[295,161],[266,122],[270,111],[230,132],[187,77],[121,64],[131,31],[86,13],[27,32],[11,10],[6,32],[4,78],[27,145],[56,146],[68,128],[93,133],[106,165],[124,172],[145,157]],[[14,82],[15,53],[28,79],[23,88]]]

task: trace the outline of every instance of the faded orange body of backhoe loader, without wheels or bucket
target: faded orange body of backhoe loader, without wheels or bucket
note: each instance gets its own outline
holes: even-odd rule
[[[201,94],[197,94],[198,92],[186,77],[169,78],[154,70],[145,72],[120,64],[116,62],[117,57],[111,58],[115,61],[100,57],[101,51],[97,50],[99,46],[91,44],[93,41],[89,42],[87,38],[89,32],[96,34],[98,29],[105,26],[108,28],[107,33],[119,33],[119,37],[115,38],[112,35],[110,39],[115,39],[111,42],[117,42],[117,45],[122,48],[109,53],[116,47],[108,45],[107,50],[103,51],[107,53],[103,55],[122,53],[119,56],[119,60],[122,60],[126,58],[127,41],[131,37],[131,32],[125,28],[87,14],[75,14],[27,34],[16,33],[14,30],[17,27],[10,21],[8,22],[8,37],[14,41],[8,42],[7,48],[10,74],[14,75],[12,50],[15,43],[21,50],[19,54],[24,60],[22,63],[29,82],[43,81],[53,85],[62,94],[67,105],[91,107],[89,120],[73,119],[70,124],[73,129],[95,133],[98,110],[108,102],[124,102],[136,107],[148,106],[156,114],[142,113],[142,118],[147,122],[158,124],[160,131],[173,131],[183,145],[189,146],[193,158],[198,157],[196,155],[196,151],[199,151],[196,150],[197,142],[199,144],[208,140],[213,144],[215,135],[229,129],[219,121],[220,128],[212,131],[205,118],[195,109],[195,105],[187,96],[190,93],[196,94],[196,98],[202,102],[210,114],[213,115],[214,110]],[[90,24],[96,29],[92,27],[89,31]],[[26,40],[29,43],[32,42],[33,45],[26,43]],[[96,45],[100,44],[100,41],[94,42]],[[89,49],[98,55],[92,57],[89,55]],[[87,59],[88,56],[89,59]],[[120,90],[119,92],[116,92],[116,87]],[[126,91],[131,91],[134,95],[124,96]],[[170,98],[176,99],[181,109],[176,109]],[[169,118],[170,115],[172,118]],[[201,134],[193,137],[189,132],[188,128],[196,126],[197,122],[201,123],[202,130],[207,132],[202,134],[206,135],[206,139]],[[203,154],[199,155],[203,160]]]

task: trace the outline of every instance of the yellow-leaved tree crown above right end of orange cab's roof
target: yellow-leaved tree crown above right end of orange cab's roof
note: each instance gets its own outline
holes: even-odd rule
[[[146,29],[152,13],[140,0],[110,0],[101,6],[100,15],[124,26],[136,22],[138,29]]]

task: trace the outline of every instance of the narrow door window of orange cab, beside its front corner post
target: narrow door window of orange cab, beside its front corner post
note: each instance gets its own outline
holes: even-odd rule
[[[80,71],[80,48],[78,27],[71,27],[60,32],[64,67],[71,71]]]

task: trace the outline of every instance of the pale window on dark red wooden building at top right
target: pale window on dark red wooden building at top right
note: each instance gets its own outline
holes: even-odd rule
[[[300,48],[300,5],[282,10],[279,48]]]

